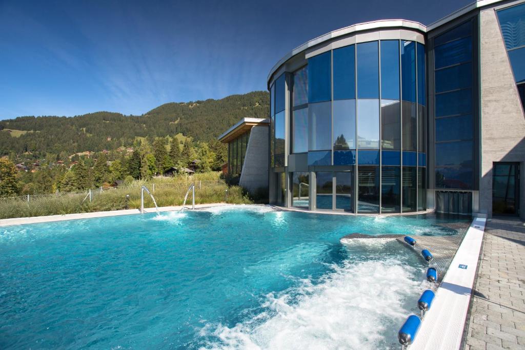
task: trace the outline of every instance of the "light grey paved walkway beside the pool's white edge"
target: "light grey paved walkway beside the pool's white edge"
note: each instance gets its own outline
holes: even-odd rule
[[[525,224],[487,223],[465,349],[525,349]]]

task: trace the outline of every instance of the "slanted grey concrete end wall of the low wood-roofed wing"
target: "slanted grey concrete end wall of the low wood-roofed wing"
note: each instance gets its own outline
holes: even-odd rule
[[[268,188],[268,150],[270,149],[268,132],[268,126],[251,128],[239,179],[239,185],[250,192],[255,192],[259,188]]]

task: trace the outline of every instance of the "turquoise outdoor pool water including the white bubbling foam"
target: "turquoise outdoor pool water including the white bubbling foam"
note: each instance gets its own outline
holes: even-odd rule
[[[228,206],[0,228],[0,348],[397,348],[433,216]],[[408,252],[408,253],[407,253]]]

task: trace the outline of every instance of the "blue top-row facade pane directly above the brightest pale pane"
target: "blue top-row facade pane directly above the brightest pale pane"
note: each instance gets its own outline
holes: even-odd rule
[[[377,41],[357,45],[358,98],[379,98],[379,49]]]

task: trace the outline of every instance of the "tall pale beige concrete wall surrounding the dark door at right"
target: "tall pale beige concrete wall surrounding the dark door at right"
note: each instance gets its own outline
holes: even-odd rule
[[[525,116],[492,8],[480,12],[481,166],[479,213],[492,214],[492,162],[520,162],[525,172]],[[520,212],[525,218],[525,176]]]

